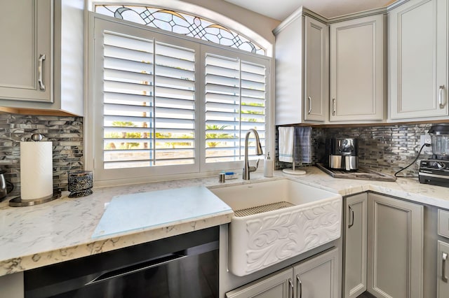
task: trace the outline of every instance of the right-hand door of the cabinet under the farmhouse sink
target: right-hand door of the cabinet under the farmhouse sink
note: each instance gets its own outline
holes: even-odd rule
[[[337,298],[338,270],[337,248],[298,264],[293,267],[296,283],[293,297]]]

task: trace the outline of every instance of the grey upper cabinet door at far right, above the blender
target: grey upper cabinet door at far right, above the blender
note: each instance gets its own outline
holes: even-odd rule
[[[388,16],[390,118],[448,115],[448,0],[412,0]]]

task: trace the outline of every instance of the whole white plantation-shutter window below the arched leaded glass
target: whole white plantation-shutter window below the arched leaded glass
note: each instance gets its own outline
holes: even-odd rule
[[[248,129],[266,147],[271,58],[104,17],[93,35],[87,159],[96,182],[241,171]]]

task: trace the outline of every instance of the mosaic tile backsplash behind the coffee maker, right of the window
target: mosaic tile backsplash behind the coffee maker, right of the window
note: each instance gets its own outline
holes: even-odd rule
[[[400,124],[379,125],[370,127],[312,127],[311,129],[311,155],[312,162],[325,162],[326,138],[357,138],[358,162],[373,171],[393,174],[399,169],[408,166],[420,151],[420,137],[429,131],[431,124]],[[276,129],[277,136],[277,129]],[[277,140],[276,140],[277,144]],[[276,169],[291,168],[291,164],[279,162],[276,147]],[[423,152],[418,159],[427,159],[431,155]],[[295,166],[309,166],[300,164]],[[401,176],[416,176],[418,163],[401,171]]]

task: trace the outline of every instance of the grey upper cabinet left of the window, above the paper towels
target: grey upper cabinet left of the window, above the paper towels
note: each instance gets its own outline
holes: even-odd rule
[[[84,1],[2,1],[1,9],[0,110],[83,115]]]

